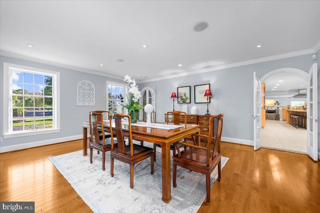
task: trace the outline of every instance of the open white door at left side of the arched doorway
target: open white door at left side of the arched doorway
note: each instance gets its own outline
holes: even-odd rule
[[[261,82],[253,72],[253,148],[261,148]]]

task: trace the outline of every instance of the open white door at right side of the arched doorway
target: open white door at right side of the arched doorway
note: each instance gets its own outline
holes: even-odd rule
[[[309,70],[306,93],[306,152],[313,161],[317,161],[317,63]]]

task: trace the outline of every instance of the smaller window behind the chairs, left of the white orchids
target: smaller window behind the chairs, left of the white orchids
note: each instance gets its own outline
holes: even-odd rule
[[[127,85],[116,82],[107,82],[108,87],[108,111],[124,113],[119,104],[125,104],[125,95],[127,94]]]

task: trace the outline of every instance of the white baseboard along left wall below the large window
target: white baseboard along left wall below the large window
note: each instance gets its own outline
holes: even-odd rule
[[[66,142],[66,141],[79,140],[82,138],[83,138],[82,135],[75,135],[75,136],[69,136],[64,138],[55,138],[55,139],[45,140],[45,141],[37,141],[37,142],[26,143],[26,144],[0,147],[0,153],[28,149],[28,148],[39,147],[39,146],[50,145],[50,144],[57,144],[57,143]]]

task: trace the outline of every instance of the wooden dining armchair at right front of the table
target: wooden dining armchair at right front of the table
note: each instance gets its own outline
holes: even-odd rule
[[[187,170],[202,173],[206,179],[206,203],[210,202],[210,174],[218,166],[218,181],[221,179],[221,156],[220,140],[222,133],[223,114],[213,115],[209,120],[209,135],[192,135],[193,144],[182,144],[189,149],[180,152],[176,145],[177,154],[173,156],[173,187],[176,188],[176,166]],[[214,122],[216,122],[216,131],[214,136]],[[196,137],[202,137],[207,140],[205,147],[196,141]]]

